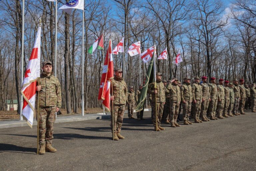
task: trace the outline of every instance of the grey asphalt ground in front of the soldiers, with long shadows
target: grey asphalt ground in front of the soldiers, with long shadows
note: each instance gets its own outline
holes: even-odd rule
[[[124,119],[112,141],[109,120],[55,124],[56,153],[36,155],[36,127],[0,130],[0,170],[193,171],[256,170],[256,113],[155,132],[146,120]]]

